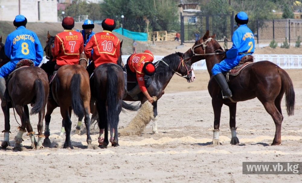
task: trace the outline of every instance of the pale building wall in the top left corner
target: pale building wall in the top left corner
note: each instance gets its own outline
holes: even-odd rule
[[[56,0],[0,0],[0,21],[23,14],[28,22],[57,22]]]

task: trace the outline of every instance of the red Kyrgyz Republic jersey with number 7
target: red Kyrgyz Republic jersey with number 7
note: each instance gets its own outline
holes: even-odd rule
[[[64,30],[55,36],[51,49],[53,61],[56,60],[56,64],[61,66],[78,64],[83,49],[82,34],[75,30]]]

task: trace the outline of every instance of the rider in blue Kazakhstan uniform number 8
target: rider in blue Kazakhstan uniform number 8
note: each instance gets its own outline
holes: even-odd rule
[[[0,68],[1,106],[9,102],[5,86],[5,78],[14,71],[17,63],[22,59],[30,59],[35,66],[39,66],[43,59],[43,48],[36,33],[26,29],[27,19],[24,15],[17,15],[14,19],[16,30],[8,34],[5,40],[5,55],[10,61]]]

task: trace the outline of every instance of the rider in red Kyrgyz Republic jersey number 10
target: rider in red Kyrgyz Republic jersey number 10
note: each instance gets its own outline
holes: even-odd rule
[[[87,58],[91,58],[93,64],[86,68],[89,76],[93,73],[96,67],[104,63],[115,63],[120,65],[124,71],[125,80],[125,96],[127,95],[127,72],[126,69],[117,62],[120,56],[120,39],[112,33],[116,23],[113,19],[106,18],[102,21],[103,32],[95,33],[92,39],[84,48]],[[91,51],[94,50],[93,53]]]

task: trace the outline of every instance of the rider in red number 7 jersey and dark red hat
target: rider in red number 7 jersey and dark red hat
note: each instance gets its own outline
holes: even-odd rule
[[[72,30],[75,22],[72,17],[65,17],[62,21],[63,32],[54,37],[51,53],[53,59],[41,65],[41,68],[51,75],[63,65],[79,63],[80,53],[84,50],[84,41],[81,33]],[[51,90],[50,90],[51,92]],[[51,96],[51,93],[50,93]]]

